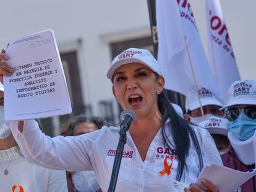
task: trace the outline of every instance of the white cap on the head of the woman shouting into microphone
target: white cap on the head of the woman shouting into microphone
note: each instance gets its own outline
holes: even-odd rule
[[[156,72],[158,75],[162,75],[158,68],[158,62],[151,52],[147,49],[129,48],[114,58],[111,67],[108,70],[107,77],[111,80],[114,72],[122,65],[137,62],[146,65],[149,69]]]

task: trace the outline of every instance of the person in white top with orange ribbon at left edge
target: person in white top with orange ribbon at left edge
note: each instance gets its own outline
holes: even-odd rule
[[[4,121],[3,91],[0,83],[0,191],[66,192],[64,171],[46,169],[23,157],[10,123]]]

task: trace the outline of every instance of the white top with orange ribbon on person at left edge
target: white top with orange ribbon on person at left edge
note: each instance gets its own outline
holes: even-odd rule
[[[8,174],[4,174],[4,170]],[[14,185],[23,191],[36,192],[67,192],[66,172],[46,169],[27,161],[18,146],[0,150],[0,191],[12,191]],[[19,187],[14,191],[19,190]]]

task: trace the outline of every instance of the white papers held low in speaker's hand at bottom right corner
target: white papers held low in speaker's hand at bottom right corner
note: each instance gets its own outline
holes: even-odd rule
[[[228,167],[219,165],[206,165],[195,182],[198,186],[207,190],[202,185],[202,179],[208,180],[215,186],[218,186],[220,192],[232,192],[256,175],[253,172],[240,172]]]

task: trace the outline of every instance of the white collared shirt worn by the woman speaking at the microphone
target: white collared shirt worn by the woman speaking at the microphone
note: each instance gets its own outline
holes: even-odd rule
[[[101,189],[108,190],[119,140],[117,127],[105,126],[85,135],[50,138],[41,133],[33,120],[25,120],[23,133],[17,129],[17,123],[11,123],[12,133],[27,159],[51,169],[93,170]],[[166,123],[165,128],[168,125]],[[172,140],[170,131],[167,132],[168,138]],[[203,162],[222,165],[220,154],[208,131],[195,128],[195,133],[202,150]],[[161,175],[166,156],[173,157],[173,166],[169,175]],[[190,184],[195,182],[199,172],[198,156],[193,144],[186,162],[188,172],[184,173],[181,182]],[[161,130],[151,142],[145,161],[142,161],[127,131],[116,191],[171,191],[176,172],[176,151],[164,147]]]

